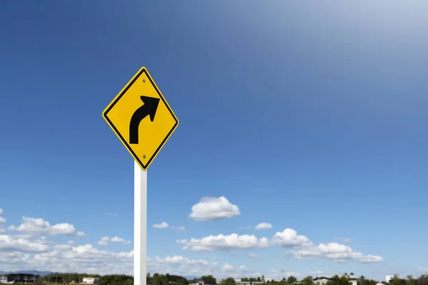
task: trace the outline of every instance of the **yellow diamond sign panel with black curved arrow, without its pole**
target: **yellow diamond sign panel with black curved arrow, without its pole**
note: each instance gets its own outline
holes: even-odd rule
[[[145,67],[103,111],[103,118],[143,170],[178,126],[178,119]]]

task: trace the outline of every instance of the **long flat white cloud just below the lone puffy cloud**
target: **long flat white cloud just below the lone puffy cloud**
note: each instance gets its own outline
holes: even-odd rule
[[[176,241],[178,244],[183,244],[185,247],[191,247],[195,252],[201,251],[218,251],[230,249],[253,249],[256,247],[267,247],[268,240],[265,237],[258,239],[253,235],[230,234],[218,236],[203,237],[202,239],[181,239]]]

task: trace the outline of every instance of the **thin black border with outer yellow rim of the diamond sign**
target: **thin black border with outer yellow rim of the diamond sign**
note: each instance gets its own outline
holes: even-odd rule
[[[136,82],[137,79],[140,78],[141,74],[143,74],[143,73],[146,74],[148,80],[151,82],[151,85],[155,88],[155,90],[158,93],[159,97],[162,99],[162,101],[165,104],[166,108],[168,108],[168,111],[170,112],[170,114],[173,116],[173,118],[175,120],[175,124],[173,125],[173,128],[171,128],[171,130],[169,131],[168,135],[165,136],[165,138],[163,139],[163,141],[161,142],[161,144],[158,146],[158,148],[156,149],[156,151],[153,153],[153,155],[150,157],[150,159],[146,163],[146,165],[143,164],[143,162],[141,162],[140,158],[136,155],[136,153],[133,152],[131,146],[128,144],[128,142],[125,140],[125,138],[123,138],[122,134],[119,133],[118,129],[116,129],[115,125],[113,125],[113,122],[111,122],[111,120],[107,116],[108,112],[110,112],[110,110],[113,108],[113,106],[116,105],[116,103],[118,103],[119,100],[121,100],[122,96],[125,95],[126,91],[128,91],[128,89],[131,88],[131,86],[133,85],[133,83]],[[106,120],[108,121],[108,123],[114,129],[114,131],[116,132],[116,134],[118,134],[119,138],[121,138],[122,142],[126,145],[126,147],[128,148],[128,150],[132,153],[133,157],[138,161],[138,164],[143,167],[143,170],[147,170],[148,165],[150,165],[151,162],[152,162],[152,160],[156,157],[156,155],[158,155],[159,150],[161,150],[161,148],[163,147],[163,145],[165,145],[166,140],[168,140],[168,138],[170,137],[171,133],[173,133],[173,131],[175,130],[175,128],[177,128],[177,125],[178,125],[178,119],[175,118],[175,115],[174,115],[173,111],[170,109],[168,103],[166,103],[165,98],[163,98],[163,95],[162,95],[161,91],[159,91],[158,87],[156,87],[156,84],[153,82],[151,76],[146,71],[146,68],[143,68],[143,70],[140,71],[140,73],[138,73],[135,78],[133,78],[133,81],[131,81],[128,84],[128,86],[126,86],[126,88],[123,90],[123,92],[121,93],[121,95],[119,95],[118,98],[116,98],[116,100],[114,100],[114,102],[103,113],[103,116],[104,116],[104,118],[106,118]]]

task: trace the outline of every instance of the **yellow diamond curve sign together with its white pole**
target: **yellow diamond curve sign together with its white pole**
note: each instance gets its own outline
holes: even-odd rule
[[[103,118],[134,159],[134,285],[146,285],[146,170],[178,127],[178,119],[145,67],[108,104]]]

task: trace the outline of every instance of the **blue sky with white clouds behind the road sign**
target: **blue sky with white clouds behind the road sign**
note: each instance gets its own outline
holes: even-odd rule
[[[4,1],[0,270],[132,273],[132,244],[98,244],[133,239],[133,160],[101,112],[146,66],[180,120],[148,171],[148,271],[424,273],[427,11],[424,1]],[[225,217],[189,217],[203,197],[217,212],[203,203],[196,215]],[[272,228],[255,229],[262,222]],[[361,262],[368,255],[376,262]]]

